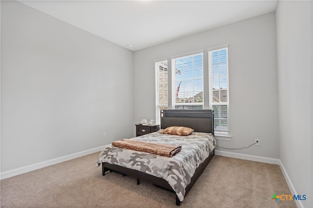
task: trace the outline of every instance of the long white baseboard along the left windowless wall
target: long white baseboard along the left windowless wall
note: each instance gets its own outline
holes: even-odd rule
[[[32,171],[32,170],[36,170],[36,169],[39,169],[39,168],[42,168],[42,167],[51,166],[51,165],[54,165],[54,164],[57,164],[57,163],[62,163],[62,162],[68,161],[68,160],[72,160],[72,159],[78,158],[78,157],[89,155],[89,154],[101,151],[103,149],[103,147],[104,146],[99,146],[99,147],[96,147],[96,148],[93,148],[93,149],[85,150],[85,151],[82,151],[82,152],[77,152],[77,153],[74,153],[74,154],[70,154],[70,155],[67,155],[67,156],[55,158],[55,159],[52,159],[52,160],[47,160],[47,161],[36,163],[36,164],[33,164],[33,165],[19,167],[19,168],[13,169],[13,170],[8,170],[8,171],[5,171],[5,172],[1,172],[0,173],[0,179],[9,178],[9,177],[12,177],[12,176],[15,176],[15,175],[20,175],[22,173],[29,172],[29,171]]]

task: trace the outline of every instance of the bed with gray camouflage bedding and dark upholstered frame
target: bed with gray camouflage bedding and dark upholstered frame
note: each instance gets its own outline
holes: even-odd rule
[[[159,131],[132,138],[153,143],[179,144],[182,149],[173,157],[105,146],[99,155],[97,166],[102,164],[102,175],[107,171],[119,172],[157,187],[176,193],[176,205],[180,205],[202,171],[214,156],[213,110],[161,110],[161,129],[185,126],[194,129],[189,136],[161,134]]]

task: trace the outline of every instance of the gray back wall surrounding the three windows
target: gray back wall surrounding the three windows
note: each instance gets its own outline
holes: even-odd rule
[[[170,32],[170,31],[169,31]],[[228,43],[231,141],[224,150],[279,158],[275,13],[232,23],[134,52],[134,122],[155,119],[154,61],[204,50],[204,107],[208,108],[207,48]]]

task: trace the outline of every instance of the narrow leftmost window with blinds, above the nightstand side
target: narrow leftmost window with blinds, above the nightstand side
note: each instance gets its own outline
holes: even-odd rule
[[[160,124],[160,111],[168,109],[167,61],[156,62],[156,124]]]

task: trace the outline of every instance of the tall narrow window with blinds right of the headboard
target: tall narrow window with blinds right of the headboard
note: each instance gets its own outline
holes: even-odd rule
[[[209,48],[210,108],[214,109],[214,131],[229,132],[228,45]]]

